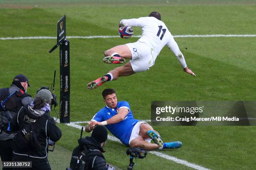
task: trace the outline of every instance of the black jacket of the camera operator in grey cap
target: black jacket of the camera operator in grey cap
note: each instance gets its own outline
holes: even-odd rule
[[[48,153],[48,140],[56,142],[61,138],[61,130],[55,125],[54,119],[49,113],[43,112],[40,117],[36,117],[28,109],[26,105],[20,109],[18,114],[11,120],[13,128],[18,128],[18,134],[27,125],[33,125],[33,130],[36,132],[38,144],[41,146],[40,150],[31,147],[30,150],[20,150],[14,147],[13,153],[17,155],[29,155],[32,158],[46,158]],[[14,141],[18,139],[18,134],[15,136]],[[17,141],[19,142],[19,141]],[[40,148],[40,147],[39,147]]]

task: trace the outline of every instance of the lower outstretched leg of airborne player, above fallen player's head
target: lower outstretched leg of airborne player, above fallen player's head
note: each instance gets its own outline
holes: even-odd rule
[[[114,70],[111,70],[108,72],[108,74],[99,77],[98,79],[89,82],[87,84],[88,89],[95,89],[102,85],[104,82],[111,81],[111,80],[116,80],[118,77],[121,76],[128,76],[128,75],[133,75],[135,72],[133,71],[133,68],[131,67],[131,62],[127,62],[125,65],[121,67],[117,67]]]

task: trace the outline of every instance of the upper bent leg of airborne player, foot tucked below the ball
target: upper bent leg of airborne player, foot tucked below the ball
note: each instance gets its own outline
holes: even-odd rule
[[[103,62],[107,64],[123,64],[125,59],[131,59],[131,50],[127,45],[118,45],[104,52]]]

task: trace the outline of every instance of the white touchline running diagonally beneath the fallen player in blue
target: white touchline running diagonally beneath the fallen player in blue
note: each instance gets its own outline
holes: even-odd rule
[[[56,120],[56,122],[59,123],[59,119],[56,119],[56,117],[54,117],[54,120]],[[140,120],[140,121],[150,122],[150,120]],[[65,125],[68,125],[68,126],[71,126],[71,127],[74,127],[74,128],[77,128],[77,129],[81,130],[82,126],[77,125],[77,124],[87,123],[87,122],[89,122],[89,121],[77,121],[77,122],[66,123]],[[118,143],[121,143],[121,141],[118,138],[115,138],[114,136],[111,136],[111,135],[108,135],[108,139],[112,140],[112,141],[115,141],[115,142],[118,142]],[[210,169],[202,167],[200,165],[196,165],[194,163],[189,163],[187,160],[182,160],[182,159],[179,159],[179,158],[176,158],[174,156],[170,156],[170,155],[158,152],[158,151],[149,151],[149,153],[154,154],[156,156],[159,156],[161,158],[165,158],[167,160],[172,160],[175,163],[179,163],[179,164],[185,165],[187,167],[194,168],[196,170],[210,170]]]

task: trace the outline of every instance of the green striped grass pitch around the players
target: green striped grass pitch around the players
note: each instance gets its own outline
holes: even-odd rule
[[[173,35],[256,34],[254,0],[2,0],[0,37],[55,37],[57,20],[63,14],[67,16],[67,36],[118,35],[121,19],[147,16],[152,11],[161,13]],[[134,32],[141,35],[140,28],[134,28]],[[256,37],[175,38],[196,78],[183,72],[174,54],[164,47],[150,70],[120,77],[95,90],[87,90],[87,83],[116,67],[102,62],[104,50],[138,38],[69,40],[72,122],[90,120],[104,106],[101,92],[107,87],[117,91],[118,100],[128,101],[134,117],[141,120],[150,119],[153,100],[256,100]],[[59,75],[59,52],[48,53],[55,43],[53,39],[0,40],[0,87],[9,86],[19,73],[28,76],[30,94],[34,95],[41,86],[50,86],[54,69]],[[57,95],[58,85],[59,78],[56,79]],[[51,115],[56,117],[54,112]],[[54,153],[49,154],[53,170],[69,166],[80,134],[67,125],[58,126],[63,136]],[[183,142],[182,148],[161,151],[164,154],[212,170],[256,169],[255,126],[154,128],[164,141]],[[126,169],[129,157],[124,145],[108,140],[105,150],[108,163]],[[137,164],[136,170],[192,169],[153,154],[137,160]]]

